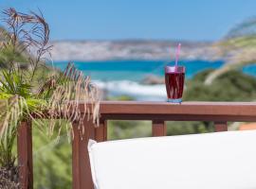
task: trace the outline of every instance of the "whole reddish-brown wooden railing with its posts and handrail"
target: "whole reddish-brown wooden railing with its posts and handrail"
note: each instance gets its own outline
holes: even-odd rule
[[[83,105],[81,106],[81,110]],[[73,123],[72,177],[73,189],[93,189],[87,143],[107,140],[108,120],[151,120],[152,135],[166,135],[165,121],[213,121],[215,131],[228,130],[227,122],[256,121],[256,103],[252,102],[101,102],[100,127],[90,120],[83,120],[84,133]],[[82,140],[81,140],[82,138]],[[23,122],[18,129],[18,163],[21,188],[33,187],[31,124]]]

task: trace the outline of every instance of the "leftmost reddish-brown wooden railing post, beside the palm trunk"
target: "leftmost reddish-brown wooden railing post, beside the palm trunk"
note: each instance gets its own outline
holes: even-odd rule
[[[21,189],[33,188],[33,158],[31,122],[22,122],[18,127],[17,151],[19,182]]]

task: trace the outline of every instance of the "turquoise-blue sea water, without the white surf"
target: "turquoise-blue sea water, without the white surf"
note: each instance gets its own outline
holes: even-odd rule
[[[67,61],[55,61],[54,66],[64,70]],[[164,66],[174,65],[173,62],[161,60],[102,60],[75,61],[75,66],[84,75],[97,80],[133,80],[139,81],[149,75],[164,76]],[[186,77],[192,78],[205,69],[216,69],[223,65],[223,61],[181,60],[179,65],[186,66]],[[256,64],[246,66],[243,72],[256,76]]]

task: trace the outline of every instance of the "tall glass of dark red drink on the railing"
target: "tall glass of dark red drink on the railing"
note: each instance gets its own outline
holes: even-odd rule
[[[165,67],[165,85],[168,102],[181,103],[185,80],[184,66]]]

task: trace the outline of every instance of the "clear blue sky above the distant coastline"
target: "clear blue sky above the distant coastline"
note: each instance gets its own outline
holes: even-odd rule
[[[214,41],[256,16],[256,0],[0,0],[0,9],[41,9],[52,40]]]

